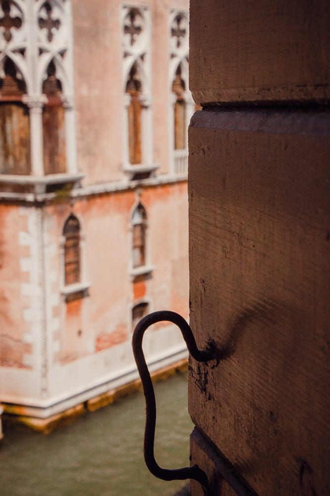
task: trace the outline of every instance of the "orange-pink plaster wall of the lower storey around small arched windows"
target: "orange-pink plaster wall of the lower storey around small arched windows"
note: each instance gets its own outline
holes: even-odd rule
[[[147,213],[151,278],[133,282],[130,217],[137,203],[134,191],[90,196],[73,206],[47,207],[49,243],[59,245],[70,212],[81,220],[85,238],[86,282],[90,296],[60,303],[60,352],[54,360],[67,363],[131,338],[135,301],[150,301],[150,310],[171,309],[188,317],[188,198],[187,183],[145,187],[141,203]],[[53,220],[55,219],[55,222]],[[59,252],[52,259],[57,276],[52,291],[61,291]],[[84,263],[82,261],[82,263]]]

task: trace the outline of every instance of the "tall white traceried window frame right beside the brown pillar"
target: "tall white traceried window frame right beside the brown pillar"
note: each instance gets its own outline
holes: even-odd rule
[[[177,15],[183,15],[187,19],[186,43],[183,47],[174,47],[172,40],[172,27]],[[189,10],[171,8],[168,16],[168,36],[169,36],[169,80],[168,80],[168,129],[169,129],[169,172],[171,175],[188,174],[188,126],[192,115],[195,112],[195,102],[189,91]],[[177,101],[177,95],[172,92],[173,81],[176,71],[181,65],[181,77],[185,82],[186,91],[184,93],[184,102],[186,105],[186,147],[184,149],[175,149],[174,141],[174,106]]]

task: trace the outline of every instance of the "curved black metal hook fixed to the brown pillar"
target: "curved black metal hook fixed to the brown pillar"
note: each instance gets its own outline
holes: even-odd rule
[[[154,457],[153,448],[156,427],[156,400],[150,373],[148,371],[148,367],[146,365],[142,351],[142,339],[144,332],[150,325],[155,324],[156,322],[161,322],[163,320],[173,322],[179,327],[184,340],[186,341],[189,353],[195,360],[197,360],[198,362],[208,362],[209,360],[212,360],[214,358],[214,352],[210,348],[204,351],[198,350],[188,323],[178,313],[174,311],[161,310],[149,313],[149,315],[141,318],[140,322],[137,324],[133,332],[132,347],[134,358],[141,377],[146,405],[146,420],[143,444],[144,461],[151,474],[153,474],[155,477],[158,477],[158,479],[162,479],[164,481],[193,479],[202,485],[205,495],[209,496],[210,490],[207,475],[198,467],[198,465],[169,470],[161,468],[157,464]]]

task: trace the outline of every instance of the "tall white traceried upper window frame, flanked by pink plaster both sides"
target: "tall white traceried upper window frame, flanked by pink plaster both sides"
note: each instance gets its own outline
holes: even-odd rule
[[[143,21],[143,29],[136,44],[129,45],[124,37],[124,22],[130,10],[137,9]],[[144,4],[124,3],[120,8],[120,25],[122,29],[122,90],[123,90],[123,172],[131,180],[137,173],[153,174],[159,165],[153,161],[153,126],[151,96],[151,13],[150,6]],[[137,63],[141,76],[141,164],[131,164],[129,154],[128,108],[131,97],[126,93],[126,85],[132,66]]]

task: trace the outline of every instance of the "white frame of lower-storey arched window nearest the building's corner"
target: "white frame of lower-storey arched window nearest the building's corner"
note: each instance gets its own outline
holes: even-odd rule
[[[63,235],[63,230],[66,221],[70,216],[76,217],[79,222],[79,258],[80,258],[80,282],[74,284],[65,284],[65,236]],[[83,228],[83,221],[79,214],[75,212],[70,212],[64,219],[62,223],[61,237],[59,242],[59,257],[60,257],[60,293],[64,301],[67,301],[70,297],[79,295],[84,298],[89,296],[89,289],[91,284],[87,279],[87,264],[86,264],[86,236],[85,230]]]

